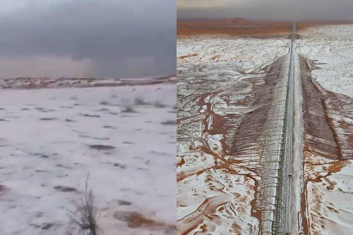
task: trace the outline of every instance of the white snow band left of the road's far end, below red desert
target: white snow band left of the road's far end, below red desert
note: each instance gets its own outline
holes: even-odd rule
[[[289,39],[235,38],[218,36],[180,37],[177,40],[178,67],[190,63],[232,64],[250,73],[288,53]]]

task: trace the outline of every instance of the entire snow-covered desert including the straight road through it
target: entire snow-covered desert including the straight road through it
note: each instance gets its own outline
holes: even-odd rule
[[[353,25],[239,21],[177,38],[177,234],[352,234]]]

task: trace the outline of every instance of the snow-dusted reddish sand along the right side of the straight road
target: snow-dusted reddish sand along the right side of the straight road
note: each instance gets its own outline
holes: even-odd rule
[[[333,146],[338,147],[325,151],[332,144],[318,138],[320,134],[304,135],[304,143],[318,140],[323,144],[304,149],[303,173],[307,184],[302,197],[306,204],[303,214],[310,234],[353,234],[353,25],[314,26],[299,34],[302,38],[298,40],[298,52],[310,60],[310,67],[311,61],[315,63],[312,78],[324,89],[338,93],[315,89],[325,94],[315,104],[320,107],[321,101],[325,113],[317,115],[326,118],[324,122],[330,125],[328,136],[335,136]],[[315,110],[310,108],[308,113]],[[313,123],[318,121],[313,118]],[[317,129],[324,131],[324,127]],[[338,156],[333,153],[336,148]],[[315,149],[319,151],[313,154]]]

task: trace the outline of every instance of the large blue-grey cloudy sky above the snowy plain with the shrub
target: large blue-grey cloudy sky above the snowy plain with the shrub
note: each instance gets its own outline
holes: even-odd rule
[[[176,73],[176,0],[0,4],[0,78]]]

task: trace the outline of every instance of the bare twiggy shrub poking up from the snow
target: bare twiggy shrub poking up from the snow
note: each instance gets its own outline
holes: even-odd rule
[[[71,222],[79,227],[82,235],[98,235],[98,225],[95,220],[96,212],[93,206],[93,192],[88,190],[88,179],[86,178],[85,192],[75,203],[76,210],[70,211]]]

